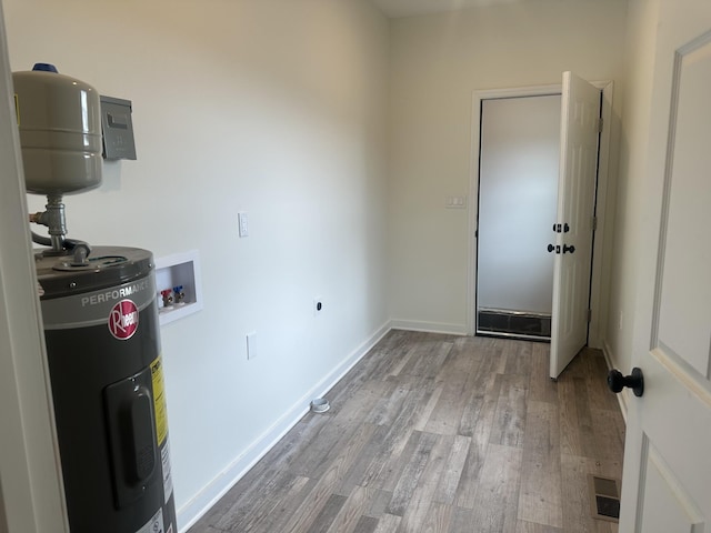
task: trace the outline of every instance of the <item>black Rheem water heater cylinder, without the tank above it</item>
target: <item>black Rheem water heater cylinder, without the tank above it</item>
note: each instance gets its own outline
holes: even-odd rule
[[[37,258],[72,533],[177,533],[152,254]]]

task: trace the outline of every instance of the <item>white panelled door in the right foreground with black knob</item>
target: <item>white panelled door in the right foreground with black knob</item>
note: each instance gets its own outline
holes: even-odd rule
[[[632,354],[644,394],[628,395],[620,531],[697,533],[711,531],[711,2],[662,0],[659,20]]]

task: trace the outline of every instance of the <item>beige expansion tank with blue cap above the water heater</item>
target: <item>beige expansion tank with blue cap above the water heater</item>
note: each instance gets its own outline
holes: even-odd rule
[[[28,192],[68,194],[99,187],[99,92],[48,63],[13,72],[12,81]]]

